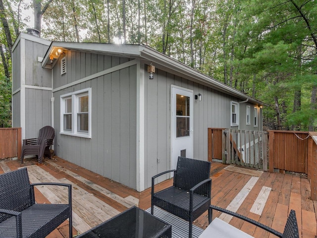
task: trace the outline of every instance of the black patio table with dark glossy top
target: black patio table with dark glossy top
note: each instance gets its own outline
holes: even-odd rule
[[[171,238],[172,226],[137,207],[131,207],[77,238]]]

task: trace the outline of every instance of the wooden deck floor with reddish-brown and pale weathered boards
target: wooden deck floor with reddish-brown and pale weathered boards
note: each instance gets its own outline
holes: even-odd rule
[[[151,206],[151,189],[137,192],[122,184],[106,179],[58,157],[44,159],[37,165],[36,159],[26,159],[31,182],[58,181],[72,183],[73,234],[83,233],[127,208],[137,205],[142,209]],[[0,174],[21,167],[19,161],[1,161]],[[310,200],[310,185],[306,178],[297,175],[260,172],[213,162],[211,166],[211,203],[251,217],[283,232],[290,209],[296,211],[301,238],[316,238],[317,202]],[[157,185],[162,189],[171,184],[166,180]],[[37,202],[61,202],[65,197],[60,191],[39,187]],[[225,221],[228,216],[214,212]],[[256,229],[233,218],[230,224],[254,236],[271,238],[267,232]],[[207,212],[195,221],[206,229]],[[68,222],[53,231],[48,238],[68,238]]]

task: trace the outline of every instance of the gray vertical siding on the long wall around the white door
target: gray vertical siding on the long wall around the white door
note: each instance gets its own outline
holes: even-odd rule
[[[170,170],[170,90],[171,85],[202,94],[194,99],[194,159],[208,160],[208,128],[231,128],[230,102],[241,101],[211,87],[156,68],[150,80],[145,68],[145,188],[151,187],[152,177]],[[245,107],[241,104],[240,107]],[[254,107],[254,105],[252,106]],[[240,123],[246,116],[240,112]],[[158,182],[168,179],[162,175]]]

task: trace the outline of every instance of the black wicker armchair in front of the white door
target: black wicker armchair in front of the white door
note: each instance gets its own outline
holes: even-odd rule
[[[169,170],[152,177],[151,213],[154,205],[189,222],[189,238],[193,221],[209,210],[211,222],[211,162],[178,157],[176,170]],[[173,186],[154,192],[154,179],[174,172]]]

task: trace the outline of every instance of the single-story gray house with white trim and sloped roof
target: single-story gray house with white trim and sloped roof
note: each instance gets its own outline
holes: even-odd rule
[[[262,130],[261,102],[144,45],[21,33],[12,53],[22,138],[52,125],[57,156],[138,191],[180,155],[208,160],[208,127]]]

